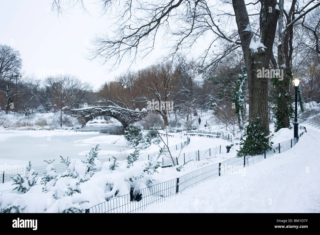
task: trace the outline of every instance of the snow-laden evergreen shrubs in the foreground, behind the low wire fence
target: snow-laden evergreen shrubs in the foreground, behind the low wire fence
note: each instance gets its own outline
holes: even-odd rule
[[[157,158],[151,158],[143,166],[134,164],[138,156],[136,151],[124,161],[114,159],[101,164],[97,158],[98,146],[83,160],[61,157],[68,168],[60,175],[56,174],[53,161],[47,161],[45,175],[38,179],[41,182],[38,185],[34,185],[34,171],[30,171],[26,179],[16,178],[19,191],[0,197],[0,212],[75,213],[153,183],[153,174],[159,167]]]

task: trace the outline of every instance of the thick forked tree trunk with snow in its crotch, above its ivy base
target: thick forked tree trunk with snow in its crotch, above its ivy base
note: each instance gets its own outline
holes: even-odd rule
[[[260,45],[255,43],[244,0],[233,0],[236,23],[248,70],[249,121],[260,118],[265,135],[269,135],[268,78],[258,78],[258,69],[269,68],[279,10],[276,0],[262,0],[260,9]],[[272,12],[270,12],[270,7]]]

